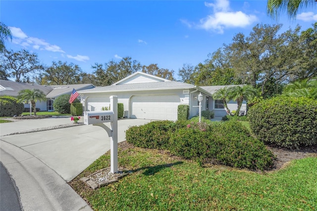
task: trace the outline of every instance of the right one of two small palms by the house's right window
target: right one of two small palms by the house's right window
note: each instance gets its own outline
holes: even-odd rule
[[[228,91],[229,98],[236,101],[238,104],[237,112],[235,113],[235,115],[239,115],[244,100],[252,100],[258,95],[258,90],[250,85],[230,87]]]

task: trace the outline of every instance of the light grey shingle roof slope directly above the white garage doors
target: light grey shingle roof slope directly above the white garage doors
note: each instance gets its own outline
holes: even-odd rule
[[[111,85],[105,87],[96,87],[89,90],[78,91],[78,93],[94,93],[94,92],[120,92],[132,90],[158,90],[158,89],[190,89],[194,85],[181,83],[177,81],[139,83],[139,84],[121,84]]]

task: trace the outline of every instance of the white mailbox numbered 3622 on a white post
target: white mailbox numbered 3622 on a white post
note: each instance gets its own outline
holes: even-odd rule
[[[85,111],[84,124],[98,124],[104,122],[113,122],[114,113],[112,110],[105,111]]]

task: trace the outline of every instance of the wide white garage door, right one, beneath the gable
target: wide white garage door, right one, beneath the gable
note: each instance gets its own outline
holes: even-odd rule
[[[131,118],[177,120],[177,95],[145,95],[131,98]]]

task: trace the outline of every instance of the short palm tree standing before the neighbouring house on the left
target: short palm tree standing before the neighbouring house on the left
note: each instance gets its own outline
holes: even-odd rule
[[[30,115],[32,113],[32,107],[33,107],[33,112],[34,112],[34,115],[36,115],[36,102],[37,101],[46,101],[46,95],[44,94],[43,91],[39,90],[39,89],[24,89],[24,90],[21,90],[19,93],[18,93],[18,100],[20,102],[27,102],[29,104],[31,104],[30,106]]]

